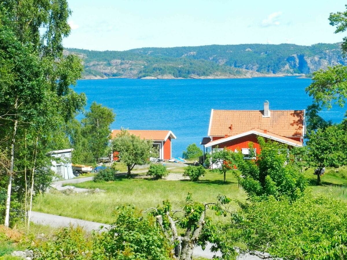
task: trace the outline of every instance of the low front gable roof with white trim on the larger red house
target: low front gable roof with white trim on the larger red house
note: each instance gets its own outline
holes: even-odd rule
[[[294,145],[294,146],[302,146],[303,145],[303,143],[300,142],[300,141],[296,141],[296,140],[293,140],[293,139],[290,139],[290,138],[287,138],[287,137],[276,135],[274,133],[271,133],[271,132],[268,132],[268,131],[264,131],[264,130],[259,129],[259,128],[253,128],[253,129],[250,129],[250,130],[245,131],[243,133],[238,133],[237,135],[234,135],[234,136],[228,136],[228,137],[224,137],[224,138],[220,138],[220,139],[211,141],[211,142],[207,143],[205,145],[205,147],[210,147],[210,146],[213,146],[213,145],[216,145],[216,144],[221,144],[223,142],[227,142],[229,140],[233,140],[235,138],[238,138],[238,136],[247,136],[247,135],[252,135],[252,134],[260,135],[260,136],[263,136],[263,137],[266,137],[266,138],[270,138],[270,139],[273,139],[273,140],[277,140],[277,141],[280,141],[280,142],[283,142],[283,143],[289,144],[289,145]],[[235,138],[233,138],[233,137],[235,137]]]

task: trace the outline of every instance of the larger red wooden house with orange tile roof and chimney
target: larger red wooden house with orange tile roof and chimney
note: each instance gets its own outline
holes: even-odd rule
[[[249,157],[249,142],[260,153],[257,136],[290,146],[302,146],[305,134],[305,110],[211,110],[208,136],[201,144],[209,148],[241,150]]]

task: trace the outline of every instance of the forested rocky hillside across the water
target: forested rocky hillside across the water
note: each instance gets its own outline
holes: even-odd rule
[[[84,60],[84,78],[233,78],[311,74],[347,64],[340,44],[239,44],[141,48],[128,51],[66,49]]]

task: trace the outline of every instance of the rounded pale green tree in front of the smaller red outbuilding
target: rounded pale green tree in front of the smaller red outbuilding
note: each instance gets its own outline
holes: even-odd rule
[[[120,161],[127,166],[129,177],[135,165],[149,164],[149,158],[156,155],[152,140],[130,135],[124,129],[113,139],[112,148],[113,151],[118,151]]]

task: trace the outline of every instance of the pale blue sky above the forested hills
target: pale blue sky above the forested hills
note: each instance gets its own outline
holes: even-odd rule
[[[65,47],[141,47],[241,43],[311,45],[342,41],[330,12],[342,0],[68,0],[73,11]]]

